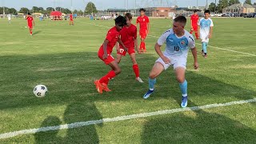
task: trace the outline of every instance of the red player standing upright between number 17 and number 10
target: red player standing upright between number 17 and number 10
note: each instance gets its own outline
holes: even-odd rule
[[[139,35],[141,37],[141,44],[139,49],[141,52],[146,52],[146,43],[145,39],[147,34],[150,33],[150,19],[145,15],[145,9],[140,9],[141,16],[137,18],[136,26],[139,23]]]

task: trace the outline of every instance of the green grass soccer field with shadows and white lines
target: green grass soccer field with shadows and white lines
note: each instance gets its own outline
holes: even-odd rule
[[[170,19],[150,19],[147,53],[136,55],[144,83],[135,81],[126,55],[112,91],[103,94],[94,80],[110,67],[97,53],[114,21],[77,18],[69,26],[35,19],[30,36],[25,20],[9,25],[0,19],[0,143],[256,142],[256,18],[213,21],[208,58],[198,53],[199,70],[188,56],[189,102],[182,109],[172,68],[157,78],[155,93],[142,98],[158,58],[154,44]],[[200,41],[196,46],[201,51]],[[47,86],[45,98],[34,96],[38,84]]]

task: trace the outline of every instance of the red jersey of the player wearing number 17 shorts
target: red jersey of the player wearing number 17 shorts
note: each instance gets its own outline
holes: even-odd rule
[[[121,41],[127,48],[134,48],[134,39],[137,38],[137,27],[131,24],[129,27],[124,26],[120,31]],[[122,47],[122,45],[120,45]]]

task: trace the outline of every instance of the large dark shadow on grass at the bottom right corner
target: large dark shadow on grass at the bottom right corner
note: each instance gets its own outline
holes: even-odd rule
[[[255,135],[255,130],[222,114],[193,110],[148,118],[141,138],[145,144],[254,143]]]

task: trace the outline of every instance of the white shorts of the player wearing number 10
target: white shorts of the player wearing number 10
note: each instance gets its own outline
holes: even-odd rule
[[[166,56],[166,55],[165,55]],[[170,59],[170,64],[166,64],[165,62],[162,61],[162,58],[158,58],[155,62],[160,62],[162,66],[164,66],[165,70],[168,69],[169,66],[173,66],[174,70],[177,67],[183,67],[186,69],[186,58],[187,55],[181,55],[181,56],[166,56],[166,58]]]

